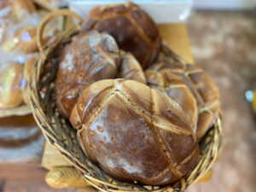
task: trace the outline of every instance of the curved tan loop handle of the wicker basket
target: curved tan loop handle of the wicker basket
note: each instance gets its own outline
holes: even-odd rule
[[[58,9],[49,15],[46,15],[44,19],[40,22],[38,26],[38,31],[37,31],[37,44],[38,44],[38,49],[40,52],[44,51],[44,44],[43,44],[43,33],[44,33],[44,27],[46,24],[49,22],[49,20],[53,20],[57,16],[71,16],[74,17],[76,20],[79,20],[79,23],[83,21],[83,19],[75,14],[73,11],[70,11],[69,9]]]

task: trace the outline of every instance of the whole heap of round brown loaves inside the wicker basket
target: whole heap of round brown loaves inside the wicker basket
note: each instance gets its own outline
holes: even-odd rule
[[[151,185],[193,170],[198,141],[220,108],[218,88],[200,67],[157,62],[160,39],[134,3],[92,9],[62,51],[54,94],[91,161]]]

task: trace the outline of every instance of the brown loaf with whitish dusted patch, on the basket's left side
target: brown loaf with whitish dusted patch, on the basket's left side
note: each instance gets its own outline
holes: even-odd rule
[[[108,34],[90,31],[79,35],[64,49],[55,80],[59,112],[69,118],[73,106],[90,84],[113,79],[119,68],[119,48]]]

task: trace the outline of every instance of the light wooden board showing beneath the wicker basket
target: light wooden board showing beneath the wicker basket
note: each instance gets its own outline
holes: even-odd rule
[[[185,61],[194,63],[190,50],[187,28],[183,23],[166,24],[159,26],[160,35],[164,41]],[[45,143],[42,166],[53,169],[56,166],[71,166],[67,160],[48,142]]]

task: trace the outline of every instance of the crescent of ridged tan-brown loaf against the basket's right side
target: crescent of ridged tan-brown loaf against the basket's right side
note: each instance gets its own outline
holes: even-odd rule
[[[195,96],[198,108],[198,122],[196,137],[200,139],[205,135],[220,111],[218,87],[211,77],[200,67],[191,64],[156,63],[147,71],[172,72],[182,78]]]

